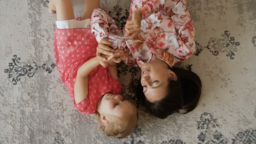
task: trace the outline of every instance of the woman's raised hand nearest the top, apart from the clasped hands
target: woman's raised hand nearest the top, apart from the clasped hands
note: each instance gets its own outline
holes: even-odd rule
[[[138,39],[138,35],[141,32],[141,19],[141,12],[139,10],[133,11],[132,19],[125,24],[125,32],[128,35],[123,38],[128,40]]]

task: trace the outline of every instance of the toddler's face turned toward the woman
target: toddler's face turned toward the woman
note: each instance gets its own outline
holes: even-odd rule
[[[106,93],[101,99],[98,111],[105,115],[125,117],[125,115],[134,115],[137,108],[130,101],[124,101],[121,95]]]

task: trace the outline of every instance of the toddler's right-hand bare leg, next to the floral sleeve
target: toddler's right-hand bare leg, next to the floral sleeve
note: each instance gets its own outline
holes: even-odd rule
[[[83,19],[90,19],[95,8],[100,8],[100,0],[84,0]]]

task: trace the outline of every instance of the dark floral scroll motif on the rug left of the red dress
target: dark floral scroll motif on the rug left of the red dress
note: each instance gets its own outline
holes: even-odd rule
[[[56,67],[54,63],[51,63],[48,67],[46,64],[39,66],[35,62],[22,66],[20,60],[21,58],[17,57],[17,55],[13,55],[12,62],[9,63],[9,68],[4,70],[8,74],[8,78],[12,78],[13,85],[16,85],[22,76],[27,75],[28,77],[33,77],[38,69],[44,69],[46,72],[51,73],[54,67]]]

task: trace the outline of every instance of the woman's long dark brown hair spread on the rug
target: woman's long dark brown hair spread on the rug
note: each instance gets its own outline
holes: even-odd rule
[[[177,75],[177,80],[169,80],[167,95],[163,99],[153,103],[147,101],[141,83],[136,91],[140,105],[147,112],[161,119],[179,112],[179,109],[184,110],[183,114],[192,111],[197,106],[201,95],[202,83],[198,75],[179,68],[173,68],[171,71]]]

